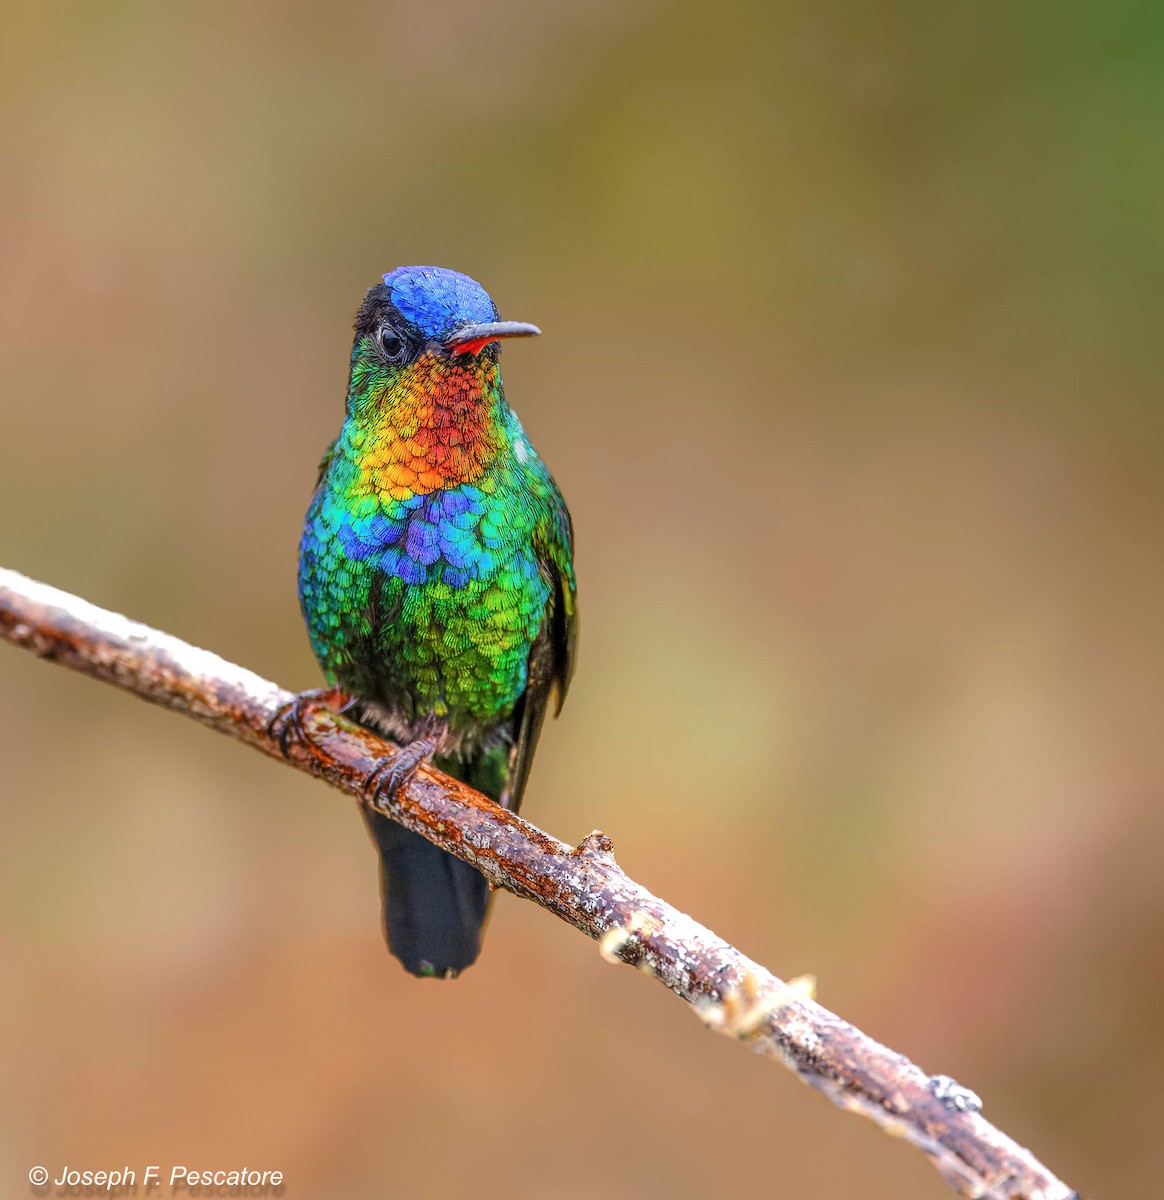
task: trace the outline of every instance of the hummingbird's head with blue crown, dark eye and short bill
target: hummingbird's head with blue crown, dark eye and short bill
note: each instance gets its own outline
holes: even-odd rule
[[[349,412],[410,424],[420,406],[479,416],[500,397],[500,341],[541,332],[502,320],[475,280],[443,266],[398,266],[364,298],[355,318]]]

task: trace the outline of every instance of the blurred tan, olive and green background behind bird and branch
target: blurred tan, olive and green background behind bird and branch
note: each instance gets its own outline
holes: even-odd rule
[[[0,562],[314,686],[300,522],[401,263],[545,336],[578,673],[527,814],[1084,1193],[1164,1174],[1164,18],[1144,0],[5,6]],[[0,647],[0,1175],[946,1195],[511,896]]]

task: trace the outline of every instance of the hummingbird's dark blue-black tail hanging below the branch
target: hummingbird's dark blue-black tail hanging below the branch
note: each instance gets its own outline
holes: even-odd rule
[[[414,976],[454,978],[481,949],[485,876],[378,812],[365,820],[380,852],[388,948]]]

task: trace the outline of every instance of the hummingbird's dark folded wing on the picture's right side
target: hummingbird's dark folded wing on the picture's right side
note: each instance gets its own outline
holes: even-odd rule
[[[521,805],[534,750],[551,697],[554,716],[562,712],[574,674],[577,646],[577,602],[574,581],[574,526],[560,496],[551,517],[534,535],[538,565],[550,584],[546,616],[529,652],[526,691],[514,712],[514,749],[502,803],[515,812]]]

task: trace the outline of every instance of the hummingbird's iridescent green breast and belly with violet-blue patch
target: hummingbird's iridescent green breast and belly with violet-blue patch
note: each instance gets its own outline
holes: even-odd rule
[[[329,679],[407,722],[456,733],[506,718],[526,688],[564,511],[516,425],[473,484],[397,499],[362,485],[341,436],[300,548],[300,602]]]

